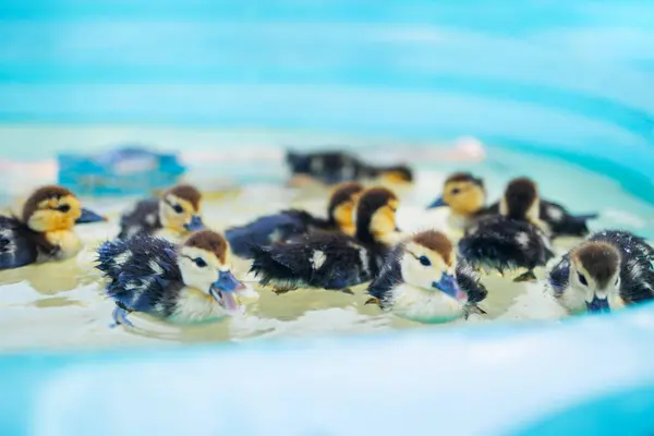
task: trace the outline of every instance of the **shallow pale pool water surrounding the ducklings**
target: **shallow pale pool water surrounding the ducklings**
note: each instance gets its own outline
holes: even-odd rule
[[[411,156],[411,150],[407,155]],[[228,167],[216,165],[211,170],[225,175]],[[543,197],[564,203],[573,213],[598,211],[601,219],[591,225],[594,230],[622,228],[654,239],[654,205],[631,196],[616,181],[603,174],[585,172],[560,160],[489,147],[483,161],[428,162],[416,168],[414,186],[397,191],[401,198],[398,225],[408,232],[441,226],[446,210],[426,213],[424,206],[439,194],[449,172],[471,170],[485,178],[491,198],[499,195],[510,178],[529,174],[540,183]],[[207,168],[192,168],[192,171],[206,172]],[[275,171],[277,183],[249,183],[238,191],[215,195],[205,202],[207,225],[222,230],[289,206],[324,215],[327,191],[287,189],[282,183],[283,166],[275,166]],[[240,316],[213,324],[178,326],[132,314],[134,329],[109,328],[113,303],[101,294],[102,278],[93,268],[94,249],[118,232],[118,217],[131,202],[132,198],[86,199],[87,205],[108,214],[111,220],[109,223],[78,227],[86,249],[76,258],[0,271],[0,329],[3,331],[0,348],[86,349],[235,342],[448,326],[422,325],[382,313],[376,306],[364,305],[365,286],[354,288],[355,295],[323,290],[298,290],[276,295],[251,281],[258,291],[258,299],[247,301]],[[565,244],[558,246],[560,253],[565,250]],[[246,275],[247,263],[234,259],[234,266],[240,277],[252,280]],[[468,323],[544,320],[566,316],[545,292],[543,282],[512,284],[495,276],[487,277],[485,282],[491,296],[482,306],[488,315],[473,317]],[[464,322],[455,322],[461,323]]]

